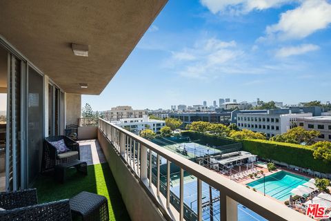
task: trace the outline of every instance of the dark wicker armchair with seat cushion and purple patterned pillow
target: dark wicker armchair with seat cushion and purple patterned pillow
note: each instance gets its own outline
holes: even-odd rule
[[[57,148],[50,144],[50,142],[55,142],[62,139],[70,151],[64,154],[58,154]],[[69,137],[46,137],[43,142],[43,160],[41,164],[41,172],[50,171],[54,169],[54,166],[63,162],[69,162],[70,160],[80,160],[79,154],[79,144]]]

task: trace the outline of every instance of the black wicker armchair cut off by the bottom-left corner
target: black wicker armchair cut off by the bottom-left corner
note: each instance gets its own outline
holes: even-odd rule
[[[0,220],[71,221],[69,200],[38,204],[37,189],[0,193]]]

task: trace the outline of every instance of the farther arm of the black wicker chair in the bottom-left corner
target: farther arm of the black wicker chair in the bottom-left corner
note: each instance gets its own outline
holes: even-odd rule
[[[0,208],[10,210],[38,204],[37,189],[0,193]],[[0,218],[1,220],[1,218]]]

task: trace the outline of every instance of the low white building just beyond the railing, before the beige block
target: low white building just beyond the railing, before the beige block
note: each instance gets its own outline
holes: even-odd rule
[[[139,134],[140,131],[145,129],[150,129],[154,131],[154,133],[158,133],[161,128],[165,126],[164,120],[150,119],[147,115],[143,115],[143,117],[140,118],[123,118],[111,123],[121,126],[121,128],[126,128],[135,134]]]

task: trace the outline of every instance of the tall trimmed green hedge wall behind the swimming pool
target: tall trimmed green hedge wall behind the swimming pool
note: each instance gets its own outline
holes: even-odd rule
[[[243,151],[263,159],[277,160],[294,166],[309,168],[321,173],[331,173],[331,163],[314,159],[314,150],[309,146],[272,142],[268,140],[242,140]]]

